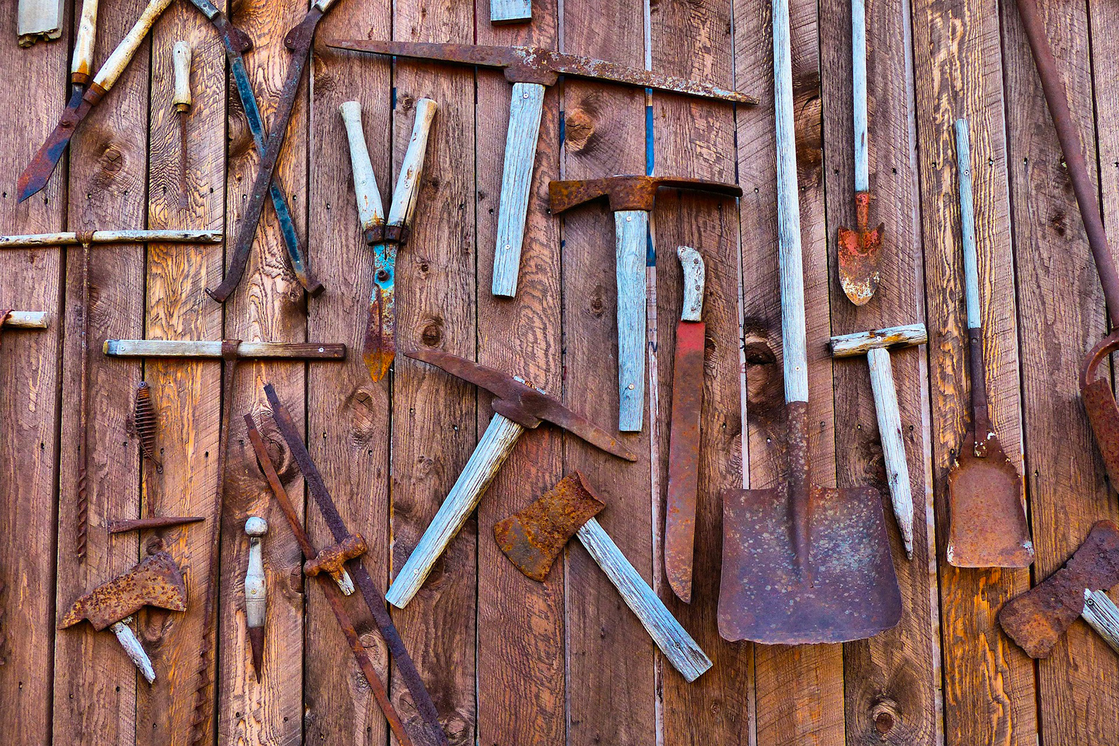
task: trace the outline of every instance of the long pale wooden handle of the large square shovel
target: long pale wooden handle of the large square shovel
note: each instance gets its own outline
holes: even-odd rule
[[[781,344],[784,400],[808,402],[805,341],[805,272],[797,189],[797,129],[792,110],[789,0],[773,0],[773,113],[777,120],[777,224],[781,274]]]

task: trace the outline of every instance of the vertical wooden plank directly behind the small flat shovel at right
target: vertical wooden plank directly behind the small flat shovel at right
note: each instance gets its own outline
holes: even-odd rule
[[[958,569],[943,560],[950,520],[946,480],[971,417],[952,133],[952,122],[959,116],[968,117],[971,128],[991,419],[1006,452],[1022,466],[997,3],[916,0],[913,50],[925,287],[930,291],[928,349],[946,743],[1033,744],[1037,737],[1033,664],[1003,635],[995,618],[1007,598],[1027,589],[1029,573]]]

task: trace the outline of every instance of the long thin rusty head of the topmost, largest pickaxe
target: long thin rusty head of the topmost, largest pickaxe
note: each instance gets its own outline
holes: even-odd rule
[[[538,83],[555,85],[561,75],[610,81],[639,88],[668,91],[687,96],[715,98],[739,104],[756,104],[758,100],[737,91],[728,91],[709,83],[688,81],[675,75],[627,67],[592,57],[564,55],[539,47],[489,47],[473,44],[429,44],[422,41],[380,41],[367,39],[330,39],[335,49],[395,55],[415,59],[438,59],[479,67],[504,69],[510,83]]]

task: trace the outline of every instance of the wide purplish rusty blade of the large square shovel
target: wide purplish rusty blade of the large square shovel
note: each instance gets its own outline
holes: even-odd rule
[[[846,642],[901,621],[901,591],[878,492],[811,489],[807,582],[797,573],[786,491],[723,491],[718,633],[724,640]]]

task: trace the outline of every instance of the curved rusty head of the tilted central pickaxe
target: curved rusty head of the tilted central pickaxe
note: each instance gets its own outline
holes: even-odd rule
[[[560,399],[548,396],[523,378],[516,378],[473,360],[431,348],[413,350],[404,352],[404,355],[442,368],[452,376],[458,376],[474,386],[485,388],[493,395],[491,405],[493,412],[508,417],[521,427],[533,429],[539,426],[540,422],[547,421],[611,455],[627,461],[637,461],[637,454],[622,447],[618,438],[582,415],[575,414],[565,407]]]

